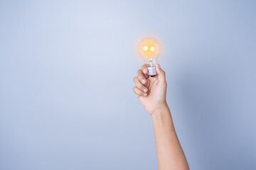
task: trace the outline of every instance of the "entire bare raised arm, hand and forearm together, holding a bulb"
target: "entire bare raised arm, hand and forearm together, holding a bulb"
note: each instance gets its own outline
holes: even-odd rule
[[[155,77],[149,77],[148,69],[143,65],[138,70],[137,77],[134,77],[136,86],[133,90],[153,121],[159,170],[187,170],[188,162],[166,103],[166,75],[159,64],[156,65],[156,72]]]

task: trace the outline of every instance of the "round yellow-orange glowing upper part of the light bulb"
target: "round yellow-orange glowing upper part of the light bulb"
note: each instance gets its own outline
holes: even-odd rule
[[[144,38],[139,43],[139,53],[142,55],[142,57],[145,57],[147,59],[153,58],[156,59],[158,57],[160,52],[160,45],[157,40],[154,38]]]

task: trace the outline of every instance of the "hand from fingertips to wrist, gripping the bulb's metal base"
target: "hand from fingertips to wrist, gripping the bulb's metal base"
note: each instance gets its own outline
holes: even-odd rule
[[[152,115],[160,108],[166,107],[166,76],[165,72],[160,68],[159,64],[156,65],[155,77],[149,77],[148,69],[144,64],[142,69],[137,72],[137,77],[134,77],[134,93],[139,98],[142,106],[146,111]]]

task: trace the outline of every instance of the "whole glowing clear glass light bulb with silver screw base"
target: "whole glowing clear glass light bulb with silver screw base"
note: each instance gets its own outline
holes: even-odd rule
[[[139,43],[139,54],[146,63],[148,74],[151,77],[156,75],[156,64],[160,52],[160,44],[154,38],[144,38]]]

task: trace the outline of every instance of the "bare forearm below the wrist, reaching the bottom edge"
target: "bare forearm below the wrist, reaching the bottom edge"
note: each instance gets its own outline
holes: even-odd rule
[[[178,142],[168,106],[156,110],[151,118],[154,125],[159,170],[189,169],[185,154]]]

